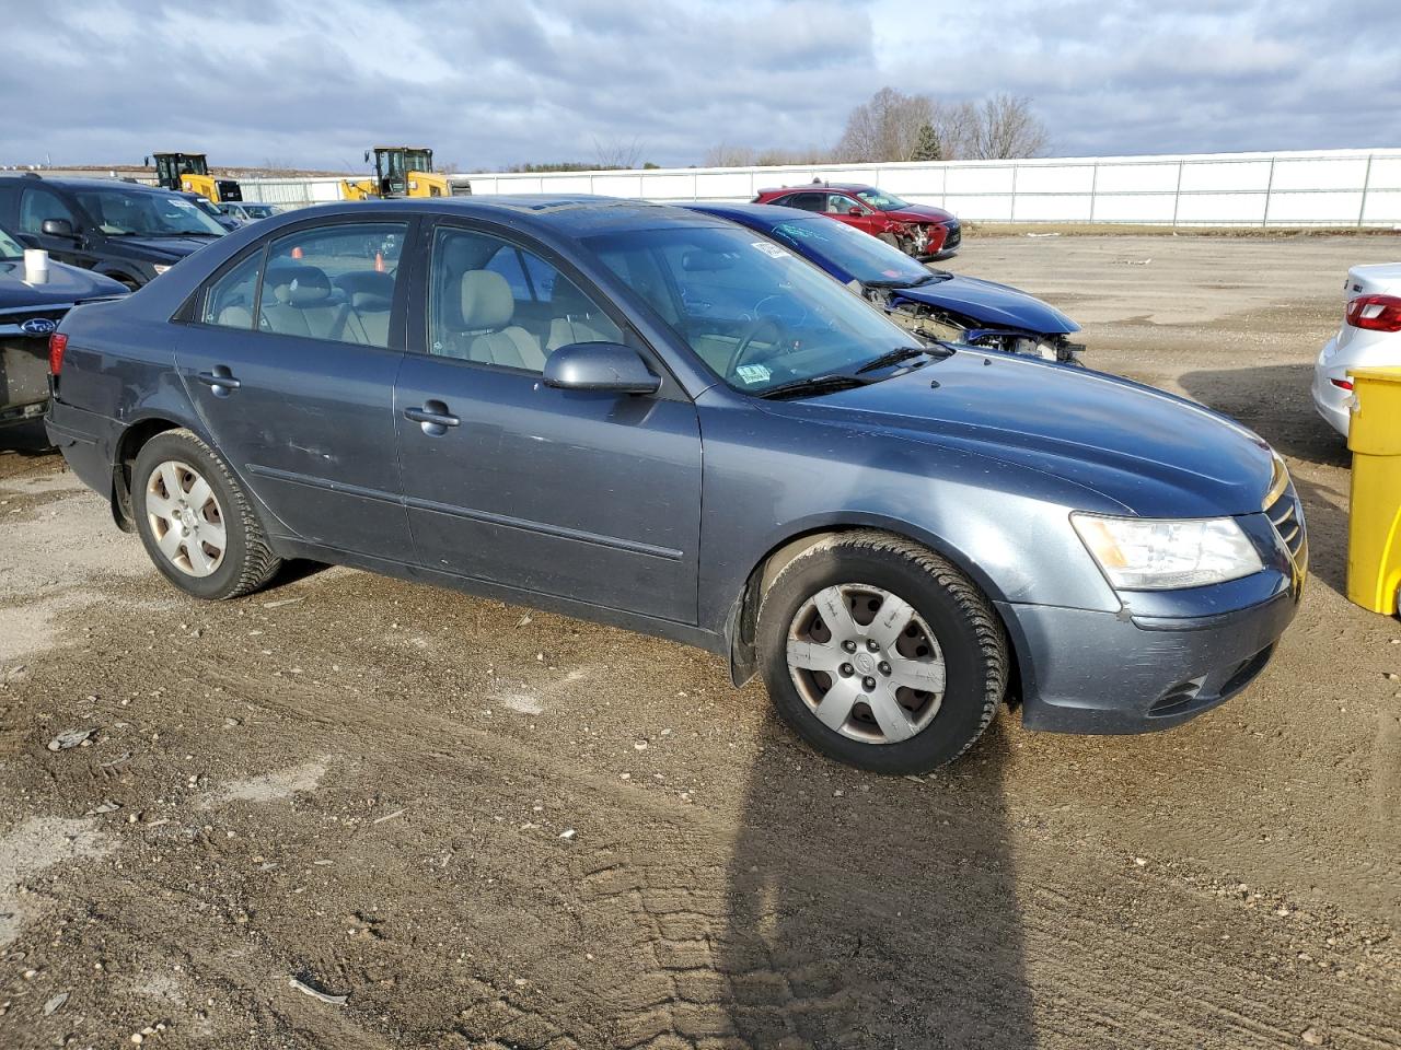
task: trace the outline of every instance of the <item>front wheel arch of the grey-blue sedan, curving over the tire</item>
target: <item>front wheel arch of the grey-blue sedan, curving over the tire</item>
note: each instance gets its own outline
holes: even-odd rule
[[[754,636],[758,624],[759,599],[764,596],[768,585],[783,571],[785,566],[806,550],[825,539],[857,529],[878,529],[880,532],[888,532],[892,536],[929,547],[940,557],[953,563],[955,568],[967,575],[988,596],[1007,636],[1007,647],[1012,654],[1012,679],[1007,694],[1009,697],[1014,696],[1020,690],[1021,631],[1016,630],[1016,624],[1006,622],[1002,608],[1007,599],[1003,591],[955,543],[950,543],[941,536],[934,536],[927,529],[922,529],[911,522],[871,514],[850,514],[831,521],[808,522],[806,526],[793,529],[782,539],[771,543],[764,556],[754,563],[730,606],[730,613],[724,624],[726,647],[730,654],[730,680],[736,687],[743,686],[758,671]]]

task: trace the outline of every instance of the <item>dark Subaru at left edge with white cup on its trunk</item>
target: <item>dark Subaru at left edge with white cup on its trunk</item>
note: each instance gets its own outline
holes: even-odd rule
[[[80,302],[125,295],[116,281],[63,263],[28,280],[24,246],[0,227],[0,427],[43,414],[49,400],[49,336]]]

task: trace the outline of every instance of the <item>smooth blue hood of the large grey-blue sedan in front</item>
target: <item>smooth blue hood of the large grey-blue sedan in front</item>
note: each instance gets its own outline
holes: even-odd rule
[[[1098,493],[1104,505],[1076,505],[1111,514],[1258,514],[1274,476],[1269,445],[1224,416],[1012,354],[960,350],[869,386],[761,405],[1016,463]]]

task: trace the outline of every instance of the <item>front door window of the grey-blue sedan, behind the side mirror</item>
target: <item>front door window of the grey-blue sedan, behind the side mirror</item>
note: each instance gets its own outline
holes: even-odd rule
[[[467,230],[434,237],[430,354],[542,372],[562,346],[622,339],[602,308],[538,255]]]

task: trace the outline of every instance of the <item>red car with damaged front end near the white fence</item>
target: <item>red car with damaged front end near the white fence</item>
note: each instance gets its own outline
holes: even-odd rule
[[[856,182],[813,182],[807,186],[759,190],[751,203],[782,204],[831,216],[895,245],[920,262],[947,259],[958,251],[962,231],[943,209],[906,200]]]

